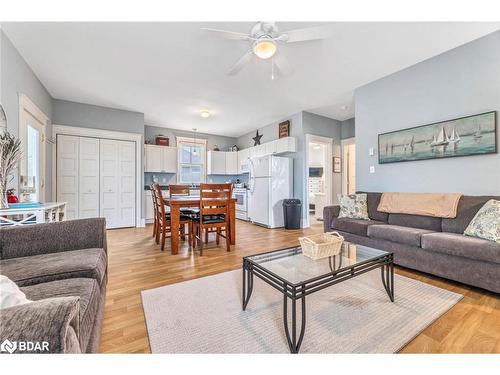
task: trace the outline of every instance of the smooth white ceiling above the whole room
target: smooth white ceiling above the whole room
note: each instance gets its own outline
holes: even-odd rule
[[[248,32],[253,23],[4,23],[54,98],[139,111],[148,125],[239,136],[301,110],[353,116],[356,87],[498,30],[500,23],[328,23],[332,36],[285,45],[293,73],[269,61],[226,71],[246,42],[200,27]],[[290,30],[319,23],[278,23]],[[347,106],[347,109],[342,109]],[[209,119],[199,111],[213,113]]]

